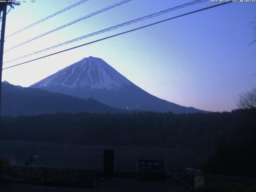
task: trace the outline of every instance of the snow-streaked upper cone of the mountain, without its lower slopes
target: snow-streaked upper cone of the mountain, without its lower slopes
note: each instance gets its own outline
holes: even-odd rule
[[[90,56],[48,76],[31,87],[40,88],[42,86],[58,85],[69,88],[117,90],[131,84],[132,82],[104,60]]]

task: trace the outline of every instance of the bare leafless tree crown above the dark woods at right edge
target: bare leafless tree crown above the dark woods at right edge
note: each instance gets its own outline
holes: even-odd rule
[[[256,108],[256,88],[243,94],[238,94],[237,106],[239,108]]]

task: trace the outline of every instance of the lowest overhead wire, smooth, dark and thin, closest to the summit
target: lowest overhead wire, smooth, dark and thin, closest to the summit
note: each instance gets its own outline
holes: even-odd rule
[[[155,24],[159,24],[159,23],[162,23],[162,22],[165,22],[165,21],[168,21],[168,20],[172,20],[172,19],[175,19],[175,18],[178,18],[178,17],[186,16],[186,15],[189,15],[189,14],[193,14],[193,13],[200,12],[200,11],[203,11],[203,10],[207,10],[207,9],[210,9],[210,8],[214,8],[214,7],[217,7],[217,6],[221,6],[221,5],[224,5],[224,4],[228,4],[228,3],[231,3],[231,2],[232,2],[232,1],[224,2],[224,3],[221,3],[221,4],[216,4],[216,5],[214,5],[214,6],[209,6],[209,7],[206,7],[206,8],[202,8],[202,9],[199,9],[199,10],[195,10],[195,11],[192,11],[192,12],[188,12],[188,13],[185,13],[185,14],[182,14],[182,15],[178,15],[178,16],[175,16],[175,17],[172,17],[172,18],[168,18],[168,19],[165,19],[165,20],[161,20],[161,21],[158,21],[158,22],[155,22],[155,23],[152,23],[152,24],[148,24],[148,25],[142,26],[142,27],[138,27],[138,28],[135,28],[135,29],[132,29],[132,30],[128,30],[128,31],[122,32],[122,33],[114,34],[114,35],[112,35],[112,36],[108,36],[108,37],[105,37],[105,38],[102,38],[102,39],[98,39],[98,40],[95,40],[95,41],[92,41],[92,42],[88,42],[88,43],[85,43],[85,44],[82,44],[82,45],[79,45],[79,46],[75,46],[75,47],[68,48],[68,49],[65,49],[65,50],[62,50],[62,51],[59,51],[59,52],[55,52],[55,53],[52,53],[52,54],[49,54],[49,55],[46,55],[46,56],[42,56],[42,57],[39,57],[39,58],[36,58],[36,59],[32,59],[32,60],[29,60],[29,61],[26,61],[26,62],[22,62],[22,63],[20,63],[20,64],[16,64],[16,65],[13,65],[13,66],[10,66],[10,67],[6,67],[6,68],[4,68],[4,69],[12,68],[12,67],[15,67],[15,66],[18,66],[18,65],[22,65],[22,64],[25,64],[25,63],[28,63],[28,62],[32,62],[32,61],[35,61],[35,60],[39,60],[39,59],[42,59],[42,58],[46,58],[46,57],[48,57],[48,56],[52,56],[52,55],[55,55],[55,54],[59,54],[59,53],[62,53],[62,52],[66,52],[66,51],[68,51],[68,50],[72,50],[72,49],[75,49],[75,48],[78,48],[78,47],[86,46],[86,45],[88,45],[88,44],[96,43],[96,42],[99,42],[99,41],[102,41],[102,40],[106,40],[106,39],[109,39],[109,38],[112,38],[112,37],[115,37],[115,36],[119,36],[119,35],[122,35],[122,34],[126,34],[126,33],[128,33],[128,32],[136,31],[136,30],[139,30],[139,29],[142,29],[142,28],[146,28],[146,27],[149,27],[149,26],[152,26],[152,25],[155,25]],[[3,70],[4,70],[4,69],[3,69]]]

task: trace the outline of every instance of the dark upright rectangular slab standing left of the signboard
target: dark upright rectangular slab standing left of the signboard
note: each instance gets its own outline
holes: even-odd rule
[[[114,150],[104,150],[104,178],[113,178]]]

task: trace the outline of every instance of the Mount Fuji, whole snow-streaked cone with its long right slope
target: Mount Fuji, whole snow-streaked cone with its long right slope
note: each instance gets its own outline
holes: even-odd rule
[[[142,90],[104,60],[82,60],[30,86],[78,98],[94,98],[108,106],[142,111],[194,113],[206,112],[162,100]]]

